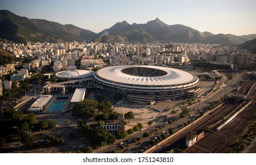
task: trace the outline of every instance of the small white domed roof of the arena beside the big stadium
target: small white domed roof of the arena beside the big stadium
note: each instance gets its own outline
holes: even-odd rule
[[[56,73],[56,77],[58,78],[66,77],[66,78],[72,78],[72,79],[86,78],[92,75],[93,75],[93,72],[88,70],[68,70],[68,71],[61,71]]]

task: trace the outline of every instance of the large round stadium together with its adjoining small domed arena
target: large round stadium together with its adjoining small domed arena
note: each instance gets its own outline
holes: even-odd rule
[[[72,75],[70,75],[72,73]],[[193,96],[199,84],[199,78],[189,72],[175,68],[150,65],[118,65],[92,71],[62,71],[56,77],[67,77],[70,81],[48,83],[44,89],[48,92],[56,87],[95,88],[96,91],[120,93],[131,103],[153,104],[155,101],[186,98]],[[196,90],[197,95],[202,90]]]

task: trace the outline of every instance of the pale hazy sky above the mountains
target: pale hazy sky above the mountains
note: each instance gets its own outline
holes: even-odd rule
[[[0,9],[97,33],[124,20],[145,24],[159,18],[200,32],[256,34],[255,0],[0,0]]]

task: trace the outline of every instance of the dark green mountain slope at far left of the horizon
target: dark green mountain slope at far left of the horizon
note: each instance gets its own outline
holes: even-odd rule
[[[57,39],[84,41],[97,36],[92,31],[74,25],[61,25],[44,19],[28,19],[7,10],[0,11],[0,38],[10,41],[56,42]]]

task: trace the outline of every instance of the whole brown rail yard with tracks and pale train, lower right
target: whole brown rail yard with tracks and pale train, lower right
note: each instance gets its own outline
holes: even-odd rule
[[[256,114],[255,82],[255,80],[247,80],[225,103],[208,111],[169,140],[148,152],[219,153],[225,151],[224,149]],[[184,147],[186,138],[199,130],[205,131],[205,136],[186,149]]]

